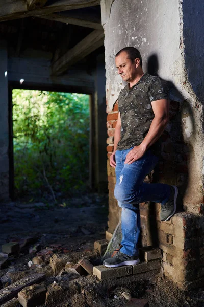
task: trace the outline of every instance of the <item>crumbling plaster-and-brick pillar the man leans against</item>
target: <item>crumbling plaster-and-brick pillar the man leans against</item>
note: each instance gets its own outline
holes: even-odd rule
[[[162,138],[158,181],[179,186],[179,209],[184,210],[185,214],[176,214],[169,222],[161,223],[158,204],[154,207],[154,217],[150,218],[156,220],[158,243],[166,257],[163,258],[164,273],[181,288],[194,287],[194,281],[200,277],[204,283],[204,273],[199,273],[199,276],[196,273],[188,275],[188,286],[185,283],[188,272],[193,268],[199,270],[202,258],[199,251],[193,258],[194,262],[188,262],[187,251],[190,253],[190,248],[197,246],[204,248],[202,229],[196,234],[198,242],[195,245],[193,242],[197,228],[195,226],[194,232],[190,228],[192,221],[201,225],[204,212],[203,13],[204,7],[198,0],[101,0],[102,24],[105,30],[109,156],[117,120],[116,101],[125,85],[117,75],[115,54],[126,46],[138,48],[142,55],[144,72],[158,75],[169,84],[170,123]],[[116,208],[113,195],[115,174],[112,168],[109,167],[108,173],[109,228],[112,230],[119,220],[119,208]],[[142,227],[145,234],[150,235],[147,233],[151,228],[149,214],[146,215],[147,209],[143,207],[141,212],[145,217]],[[186,221],[191,221],[188,233]],[[188,245],[191,240],[192,245]],[[173,272],[178,273],[179,277],[175,278]]]

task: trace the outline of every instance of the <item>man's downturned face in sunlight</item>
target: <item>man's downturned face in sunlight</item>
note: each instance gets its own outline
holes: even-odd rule
[[[131,82],[137,77],[136,63],[127,58],[126,52],[121,52],[115,58],[118,74],[122,77],[123,81]]]

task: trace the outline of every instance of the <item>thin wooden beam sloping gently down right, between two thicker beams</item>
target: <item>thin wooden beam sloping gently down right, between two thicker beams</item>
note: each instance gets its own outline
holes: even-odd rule
[[[98,29],[98,30],[103,29],[102,25],[99,23],[93,23],[93,21],[88,21],[88,20],[83,20],[83,19],[78,19],[78,18],[66,17],[60,14],[47,14],[47,15],[40,15],[37,17],[48,19],[48,20],[59,21],[60,23],[77,25],[81,27],[87,27],[87,28]]]

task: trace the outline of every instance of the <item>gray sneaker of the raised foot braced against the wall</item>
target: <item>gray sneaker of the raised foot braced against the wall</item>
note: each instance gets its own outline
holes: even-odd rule
[[[161,206],[160,218],[161,221],[168,221],[176,210],[176,199],[178,196],[178,189],[176,186],[171,186],[171,195],[168,202]]]

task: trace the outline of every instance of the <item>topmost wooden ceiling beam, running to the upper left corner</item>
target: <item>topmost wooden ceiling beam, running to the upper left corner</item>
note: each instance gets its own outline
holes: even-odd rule
[[[99,4],[100,0],[57,0],[42,8],[28,10],[27,3],[24,0],[0,0],[0,21],[80,9]]]

